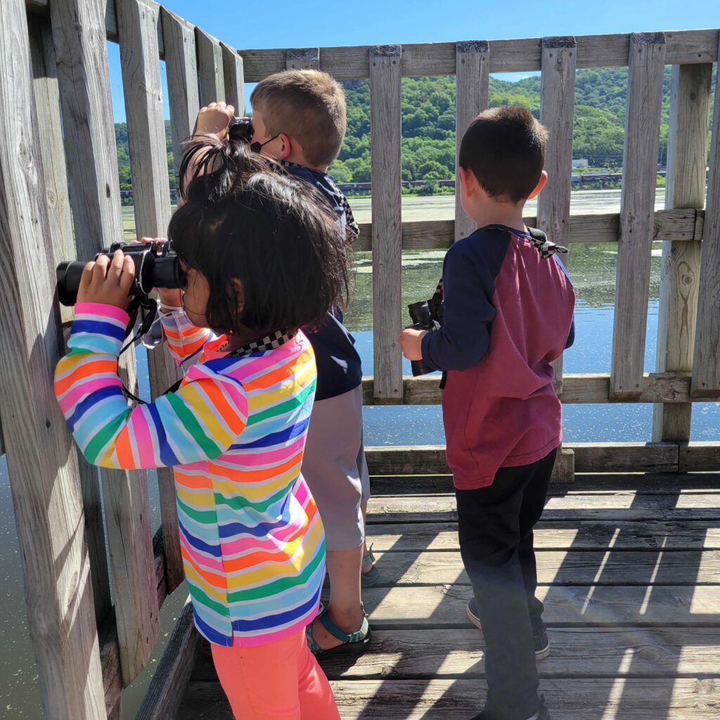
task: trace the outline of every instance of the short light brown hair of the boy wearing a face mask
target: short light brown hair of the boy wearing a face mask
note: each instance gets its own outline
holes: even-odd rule
[[[328,73],[286,70],[259,82],[250,96],[270,135],[297,138],[313,165],[329,165],[345,138],[345,91]]]

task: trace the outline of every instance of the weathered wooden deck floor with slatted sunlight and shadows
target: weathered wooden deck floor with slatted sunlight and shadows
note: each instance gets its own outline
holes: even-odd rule
[[[720,476],[640,477],[554,486],[537,528],[553,720],[720,718]],[[465,720],[481,707],[454,497],[428,487],[371,501],[372,649],[323,663],[343,720]],[[209,646],[197,647],[179,717],[230,720]]]

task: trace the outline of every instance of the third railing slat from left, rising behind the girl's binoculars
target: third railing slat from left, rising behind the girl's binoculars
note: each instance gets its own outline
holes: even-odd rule
[[[132,187],[135,197],[143,198],[143,202],[135,203],[135,227],[140,237],[156,237],[166,233],[170,221],[170,186],[157,41],[160,12],[158,6],[150,5],[146,0],[117,0],[117,6]],[[148,369],[153,400],[182,375],[164,347],[148,352]],[[184,580],[175,480],[171,468],[158,468],[158,486],[165,572],[168,575],[168,593],[171,593]],[[152,606],[152,600],[148,602]]]

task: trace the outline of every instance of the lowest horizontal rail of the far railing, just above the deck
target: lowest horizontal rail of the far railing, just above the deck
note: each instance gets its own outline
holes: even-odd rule
[[[720,443],[563,443],[575,472],[714,472]],[[366,447],[371,475],[448,474],[444,445]]]

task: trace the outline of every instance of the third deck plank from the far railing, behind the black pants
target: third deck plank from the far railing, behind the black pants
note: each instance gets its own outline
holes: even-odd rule
[[[368,541],[378,552],[421,552],[459,549],[457,523],[382,522],[375,516],[367,526]],[[594,520],[577,525],[541,520],[535,526],[539,550],[606,549],[693,550],[720,549],[718,520]]]

